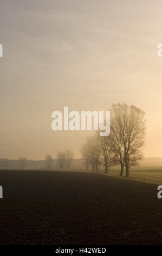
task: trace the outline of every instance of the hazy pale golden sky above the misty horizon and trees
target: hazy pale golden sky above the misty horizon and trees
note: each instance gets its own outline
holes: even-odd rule
[[[162,157],[162,1],[1,0],[0,158],[44,159],[88,131],[53,131],[51,113],[146,113],[146,157]]]

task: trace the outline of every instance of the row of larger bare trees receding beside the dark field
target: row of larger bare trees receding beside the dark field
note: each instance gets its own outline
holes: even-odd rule
[[[105,173],[115,165],[120,165],[120,176],[129,177],[131,166],[138,166],[142,160],[141,148],[145,144],[146,120],[145,113],[135,106],[125,103],[113,104],[109,136],[100,136],[96,131],[88,137],[86,144],[81,146],[81,155],[86,169],[98,171],[99,166],[105,167]]]

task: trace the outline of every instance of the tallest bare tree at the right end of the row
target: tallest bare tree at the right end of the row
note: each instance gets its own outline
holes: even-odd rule
[[[141,147],[145,144],[146,121],[145,113],[135,106],[126,104],[113,105],[114,132],[119,138],[122,159],[126,167],[126,177],[129,177],[129,168],[137,166],[142,159]],[[120,157],[119,157],[120,158]]]

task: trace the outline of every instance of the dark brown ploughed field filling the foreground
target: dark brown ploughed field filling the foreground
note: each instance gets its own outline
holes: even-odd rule
[[[1,245],[162,244],[156,184],[96,173],[1,170],[0,185]]]

